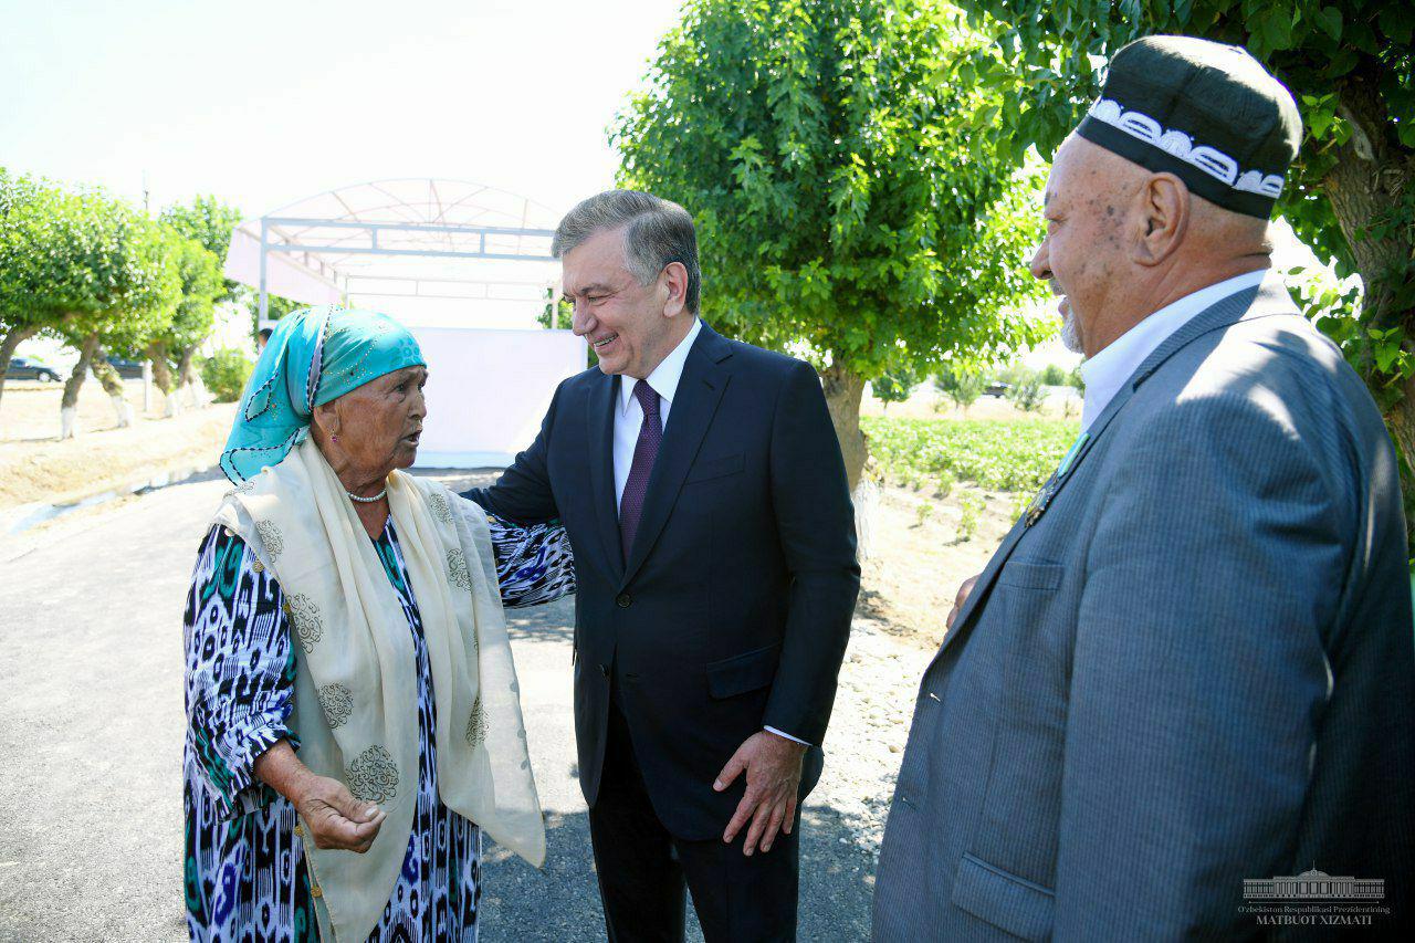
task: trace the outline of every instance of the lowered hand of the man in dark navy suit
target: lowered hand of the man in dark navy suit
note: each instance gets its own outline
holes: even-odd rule
[[[747,773],[747,793],[737,803],[737,811],[722,840],[732,844],[741,827],[751,820],[741,854],[751,855],[760,842],[763,851],[771,851],[777,833],[791,834],[795,823],[797,789],[801,786],[801,762],[805,758],[805,743],[788,741],[784,736],[761,731],[753,733],[737,748],[727,765],[717,773],[712,784],[719,793]]]

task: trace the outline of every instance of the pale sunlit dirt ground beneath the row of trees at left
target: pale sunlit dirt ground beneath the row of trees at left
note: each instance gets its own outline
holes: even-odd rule
[[[140,416],[117,428],[113,405],[96,381],[79,391],[79,436],[59,442],[62,384],[7,382],[0,399],[0,511],[21,504],[62,504],[180,467],[215,462],[231,430],[235,404],[218,404],[163,419],[154,391],[143,411],[143,384],[123,384]]]

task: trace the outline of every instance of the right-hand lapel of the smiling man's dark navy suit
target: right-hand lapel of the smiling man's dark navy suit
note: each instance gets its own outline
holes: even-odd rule
[[[668,411],[664,442],[658,447],[658,459],[654,460],[654,471],[648,477],[644,514],[640,517],[638,534],[624,565],[621,588],[634,579],[634,573],[644,565],[678,501],[678,491],[683,486],[688,469],[692,467],[713,413],[717,412],[717,404],[722,402],[722,394],[727,389],[730,374],[722,362],[729,357],[732,347],[703,323],[698,340],[688,351],[688,360],[683,361],[683,375],[678,381],[674,405]]]

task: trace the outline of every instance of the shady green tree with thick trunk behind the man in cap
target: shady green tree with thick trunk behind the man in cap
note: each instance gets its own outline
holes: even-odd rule
[[[1131,40],[1184,33],[1247,47],[1292,91],[1306,135],[1278,211],[1364,300],[1303,290],[1317,326],[1365,378],[1405,456],[1415,510],[1415,14],[1391,0],[959,0],[996,42],[959,75],[999,92],[979,112],[988,146],[1022,166],[1049,154]],[[1329,297],[1320,297],[1322,293]],[[1415,518],[1412,518],[1415,520]]]

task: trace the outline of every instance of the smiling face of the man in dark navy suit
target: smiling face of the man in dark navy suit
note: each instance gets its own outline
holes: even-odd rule
[[[638,283],[624,262],[621,228],[596,232],[562,261],[565,300],[574,306],[574,333],[594,348],[600,370],[648,377],[672,350],[664,280]]]

